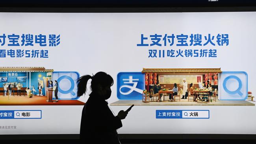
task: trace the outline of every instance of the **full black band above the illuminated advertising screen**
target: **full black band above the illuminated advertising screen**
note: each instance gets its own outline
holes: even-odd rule
[[[256,0],[5,0],[0,12],[256,11]]]

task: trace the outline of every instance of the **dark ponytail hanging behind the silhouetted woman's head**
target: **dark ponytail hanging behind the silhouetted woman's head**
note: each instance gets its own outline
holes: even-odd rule
[[[91,79],[92,76],[90,75],[85,75],[85,76],[82,76],[80,77],[78,80],[77,80],[77,96],[82,96],[83,94],[85,94],[86,92],[86,85],[87,85],[87,81],[89,79]]]

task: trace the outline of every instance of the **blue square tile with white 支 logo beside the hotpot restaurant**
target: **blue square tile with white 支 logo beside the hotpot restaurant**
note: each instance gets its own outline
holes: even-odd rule
[[[117,98],[120,100],[141,100],[145,89],[142,72],[120,72],[117,74]]]

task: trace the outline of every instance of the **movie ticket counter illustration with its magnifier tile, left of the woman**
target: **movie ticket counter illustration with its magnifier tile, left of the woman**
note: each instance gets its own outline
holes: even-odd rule
[[[78,72],[44,67],[0,67],[0,105],[84,105],[76,94],[79,77]]]

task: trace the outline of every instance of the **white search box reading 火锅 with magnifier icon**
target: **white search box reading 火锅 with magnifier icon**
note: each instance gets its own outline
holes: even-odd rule
[[[200,110],[200,111],[182,111],[182,118],[210,118],[210,114],[208,110]]]

